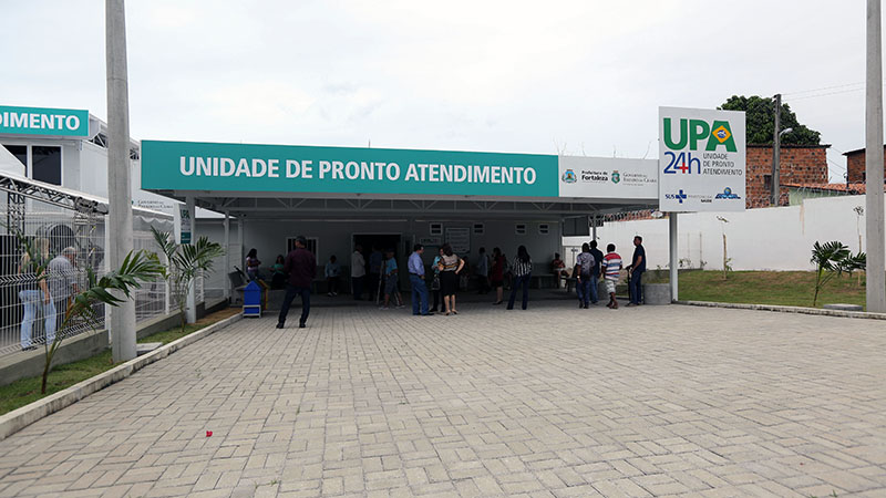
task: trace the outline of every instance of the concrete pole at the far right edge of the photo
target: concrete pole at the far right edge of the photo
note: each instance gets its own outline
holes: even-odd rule
[[[880,1],[867,0],[867,77],[865,85],[865,230],[867,232],[867,311],[886,313],[886,238],[883,227],[883,48]]]

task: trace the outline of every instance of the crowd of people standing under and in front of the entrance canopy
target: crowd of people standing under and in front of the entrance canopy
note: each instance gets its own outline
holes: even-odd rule
[[[576,257],[574,268],[567,269],[559,253],[555,253],[550,269],[558,284],[562,278],[575,278],[579,308],[587,309],[590,304],[599,301],[598,284],[602,279],[606,292],[609,294],[607,307],[618,309],[616,283],[622,268],[626,268],[630,294],[628,307],[639,305],[642,300],[642,274],[646,271],[642,237],[635,237],[633,246],[633,256],[627,267],[624,266],[621,256],[616,252],[614,243],[607,245],[606,255],[604,255],[597,248],[597,241],[594,240],[581,246],[581,252]],[[382,251],[380,248],[373,247],[367,261],[363,248],[358,245],[354,247],[350,262],[351,290],[354,300],[362,300],[365,293],[370,300],[375,300],[382,310],[405,308],[400,291],[400,269],[392,249]],[[259,264],[256,250],[250,250],[246,258],[247,274],[250,279],[259,278]],[[336,297],[340,290],[341,266],[334,255],[330,256],[323,269],[327,295]],[[429,271],[424,263],[424,246],[414,245],[406,263],[412,294],[412,314],[423,317],[434,313],[443,313],[446,317],[459,314],[456,294],[460,288],[466,287],[463,281],[466,270],[466,260],[456,255],[451,245],[444,243],[434,256]],[[486,249],[481,247],[473,270],[477,280],[478,293],[485,294],[495,290],[495,299],[492,304],[504,303],[505,283],[508,282],[511,295],[506,308],[514,309],[518,292],[521,293],[521,308],[524,310],[528,308],[533,260],[525,246],[517,248],[517,253],[512,260],[508,260],[497,247],[493,248],[491,257],[486,253]],[[302,302],[299,326],[305,328],[310,313],[311,283],[317,274],[317,261],[313,253],[307,250],[307,239],[302,236],[297,237],[296,248],[286,257],[279,255],[271,271],[272,287],[286,289],[277,328],[285,326],[289,308],[297,295],[301,298]],[[431,300],[432,295],[433,301]]]

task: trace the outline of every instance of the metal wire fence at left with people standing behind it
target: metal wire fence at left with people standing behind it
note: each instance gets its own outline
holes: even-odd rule
[[[51,342],[53,335],[70,338],[92,329],[79,323],[60,330],[66,297],[85,287],[86,269],[97,276],[109,269],[106,207],[101,199],[78,194],[0,176],[0,355],[41,346],[48,340]],[[136,250],[159,252],[151,227],[171,231],[173,219],[134,209]],[[54,260],[53,268],[65,271],[50,272],[50,278],[39,283],[17,235],[23,235],[42,258]],[[171,297],[163,281],[146,283],[135,291],[134,298],[136,322],[164,315],[169,310]],[[96,305],[95,311],[100,317],[97,325],[103,328],[104,305]]]

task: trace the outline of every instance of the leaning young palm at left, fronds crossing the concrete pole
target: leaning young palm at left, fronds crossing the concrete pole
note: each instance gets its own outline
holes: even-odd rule
[[[12,227],[7,228],[14,235],[28,256],[29,271],[34,274],[38,283],[45,282],[51,277],[49,274],[49,259],[21,231]],[[95,304],[120,305],[131,298],[134,289],[142,287],[141,282],[156,280],[162,272],[163,264],[161,264],[157,255],[146,250],[130,251],[119,269],[112,270],[101,278],[95,274],[91,267],[87,267],[86,289],[69,297],[64,302],[64,310],[56,310],[56,313],[64,313],[61,325],[52,343],[43,344],[45,362],[40,393],[47,394],[47,381],[52,369],[52,359],[62,345],[62,341],[64,341],[65,329],[69,326],[99,329],[101,326],[101,314],[95,310]],[[117,291],[123,295],[114,295],[113,291]]]

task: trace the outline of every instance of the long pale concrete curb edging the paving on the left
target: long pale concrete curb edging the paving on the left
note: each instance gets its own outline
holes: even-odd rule
[[[6,439],[12,434],[16,434],[17,432],[48,415],[76,403],[78,401],[96,391],[101,391],[111,384],[128,377],[135,372],[144,369],[146,365],[150,365],[158,360],[163,360],[164,357],[175,353],[186,345],[193,344],[209,334],[218,332],[219,330],[230,325],[234,322],[237,322],[240,319],[243,319],[241,313],[226,318],[220,322],[213,323],[212,325],[200,329],[197,332],[185,335],[184,338],[173,341],[163,347],[152,351],[151,353],[130,360],[128,362],[117,365],[107,372],[103,372],[92,378],[86,378],[85,381],[74,384],[64,391],[59,391],[55,394],[51,394],[42,400],[38,400],[29,405],[22,406],[21,408],[0,416],[0,440]]]

